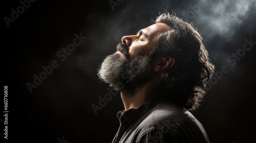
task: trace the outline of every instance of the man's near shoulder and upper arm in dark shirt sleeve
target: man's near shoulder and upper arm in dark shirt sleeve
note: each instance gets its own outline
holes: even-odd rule
[[[191,137],[194,137],[197,141],[203,140],[201,142],[207,142],[204,140],[208,140],[201,123],[193,114],[169,102],[159,103],[149,110],[141,118],[139,124],[143,132],[140,133],[138,140],[143,140],[148,136],[151,137],[149,139],[157,139],[158,135],[163,136],[159,140],[168,141],[184,141],[189,140]]]

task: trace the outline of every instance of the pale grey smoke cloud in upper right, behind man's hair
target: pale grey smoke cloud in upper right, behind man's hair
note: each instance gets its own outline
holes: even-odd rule
[[[205,7],[201,7],[200,11],[195,14],[195,18],[191,19],[194,26],[201,33],[204,44],[210,53],[211,61],[223,65],[226,64],[226,58],[237,50],[237,46],[232,46],[227,50],[227,44],[237,43],[238,40],[243,42],[245,37],[241,35],[241,28],[248,25],[246,28],[253,29],[250,21],[253,17],[252,11],[255,9],[255,1],[205,1]],[[190,4],[188,9],[183,12],[193,11],[191,6],[198,3]],[[229,45],[230,46],[230,45]],[[226,49],[226,50],[225,50]],[[228,51],[228,52],[227,52]],[[230,52],[231,51],[231,52]]]

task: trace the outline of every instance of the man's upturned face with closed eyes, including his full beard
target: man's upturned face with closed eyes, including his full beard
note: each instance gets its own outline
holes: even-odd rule
[[[164,23],[156,23],[136,35],[122,37],[117,52],[109,55],[98,70],[99,78],[118,91],[132,96],[151,79],[151,57],[161,33],[171,30]]]

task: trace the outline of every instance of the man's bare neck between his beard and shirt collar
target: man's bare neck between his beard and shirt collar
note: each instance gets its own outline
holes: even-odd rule
[[[121,98],[125,111],[134,107],[139,107],[146,101],[156,96],[157,86],[155,81],[147,82],[134,95],[126,95],[121,91]]]

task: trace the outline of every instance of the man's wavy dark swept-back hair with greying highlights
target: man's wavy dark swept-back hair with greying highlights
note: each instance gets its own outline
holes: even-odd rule
[[[174,66],[162,71],[157,78],[160,94],[168,95],[175,103],[194,111],[200,106],[206,83],[215,70],[203,38],[193,23],[183,21],[175,13],[160,13],[153,22],[165,23],[172,28],[158,37],[158,46],[152,55],[175,59]]]

